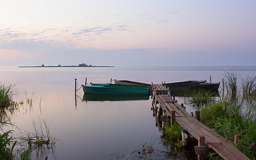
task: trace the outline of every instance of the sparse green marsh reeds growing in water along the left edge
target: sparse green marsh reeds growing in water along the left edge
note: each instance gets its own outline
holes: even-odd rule
[[[55,137],[50,135],[50,125],[47,123],[46,119],[39,117],[38,122],[32,120],[34,132],[25,131],[25,134],[21,133],[20,137],[13,137],[13,130],[3,130],[3,126],[12,125],[8,122],[10,118],[7,112],[15,113],[15,111],[19,110],[20,106],[23,107],[23,100],[20,102],[13,101],[13,96],[16,95],[15,90],[13,90],[14,86],[15,85],[9,85],[7,87],[5,87],[5,85],[0,86],[0,159],[23,160],[31,159],[31,157],[35,155],[42,159],[45,155],[54,151],[55,142],[58,141]],[[25,93],[25,95],[27,106],[29,106],[29,108],[33,107],[33,94],[31,97],[27,97],[27,93]]]

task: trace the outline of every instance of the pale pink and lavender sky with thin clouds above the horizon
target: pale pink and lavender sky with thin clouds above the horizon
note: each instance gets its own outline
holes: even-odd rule
[[[255,0],[0,2],[0,65],[256,66]]]

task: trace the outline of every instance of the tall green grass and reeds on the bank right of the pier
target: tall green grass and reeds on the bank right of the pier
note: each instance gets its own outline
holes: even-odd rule
[[[236,147],[255,159],[256,151],[252,147],[256,143],[256,77],[241,79],[241,84],[237,77],[236,73],[225,74],[223,99],[201,106],[201,121],[230,141],[241,135]]]

